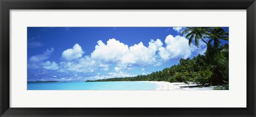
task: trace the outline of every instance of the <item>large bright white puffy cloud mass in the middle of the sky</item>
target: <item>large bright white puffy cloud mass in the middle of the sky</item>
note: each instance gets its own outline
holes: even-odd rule
[[[91,53],[91,58],[102,62],[111,62],[118,65],[138,65],[147,66],[156,62],[156,51],[162,47],[161,40],[150,40],[149,46],[146,47],[142,42],[129,47],[127,44],[119,42],[116,39],[109,39],[107,44],[101,40],[95,46]]]

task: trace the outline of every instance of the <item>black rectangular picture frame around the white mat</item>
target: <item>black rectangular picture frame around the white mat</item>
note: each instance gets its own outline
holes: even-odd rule
[[[0,0],[1,116],[255,116],[255,0]],[[10,10],[197,9],[246,10],[246,108],[12,108],[10,107]],[[235,103],[235,102],[234,102]]]

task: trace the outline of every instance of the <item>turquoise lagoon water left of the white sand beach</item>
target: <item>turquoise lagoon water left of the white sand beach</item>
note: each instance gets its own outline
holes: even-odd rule
[[[28,83],[28,90],[154,90],[158,87],[149,82],[59,82]]]

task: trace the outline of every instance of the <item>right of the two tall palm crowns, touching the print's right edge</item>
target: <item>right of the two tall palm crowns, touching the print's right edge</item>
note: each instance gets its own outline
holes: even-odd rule
[[[204,38],[209,38],[214,41],[214,46],[219,46],[220,39],[228,40],[228,33],[220,27],[214,27],[206,32],[206,36]]]

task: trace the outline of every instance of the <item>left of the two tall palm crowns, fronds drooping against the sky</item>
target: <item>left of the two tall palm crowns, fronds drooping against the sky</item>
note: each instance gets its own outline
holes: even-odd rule
[[[206,32],[210,28],[202,28],[202,27],[187,27],[182,31],[181,35],[186,35],[186,38],[189,38],[188,44],[191,47],[191,42],[195,40],[195,46],[199,48],[199,41],[202,40],[204,43],[208,44],[203,38],[206,36]]]

